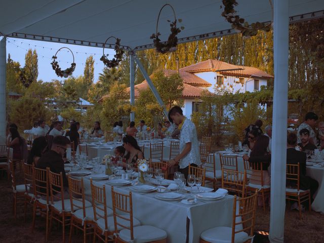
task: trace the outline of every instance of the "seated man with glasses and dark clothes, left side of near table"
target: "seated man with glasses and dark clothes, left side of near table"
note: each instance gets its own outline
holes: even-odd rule
[[[46,169],[47,167],[49,167],[51,172],[57,174],[60,174],[62,172],[64,188],[68,188],[68,181],[65,175],[63,156],[69,145],[70,140],[68,138],[63,136],[56,136],[52,141],[51,150],[44,153],[41,158],[39,158],[37,163],[37,167],[40,169]],[[64,198],[69,198],[67,190],[64,193]]]

